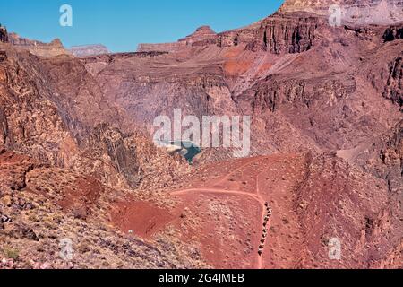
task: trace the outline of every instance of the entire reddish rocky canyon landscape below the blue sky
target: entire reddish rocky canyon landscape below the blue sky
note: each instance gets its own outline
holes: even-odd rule
[[[2,28],[0,269],[403,268],[402,12],[287,0],[117,54]],[[174,109],[251,116],[250,157],[155,146]]]

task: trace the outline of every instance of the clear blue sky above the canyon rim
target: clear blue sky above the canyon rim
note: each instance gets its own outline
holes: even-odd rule
[[[9,0],[0,23],[22,37],[64,46],[104,44],[134,51],[139,43],[176,41],[201,25],[223,31],[274,13],[282,0]],[[73,27],[59,25],[62,4],[73,7]]]

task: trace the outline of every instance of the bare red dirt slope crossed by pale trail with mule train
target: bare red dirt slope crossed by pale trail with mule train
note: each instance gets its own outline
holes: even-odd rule
[[[179,201],[175,209],[126,204],[119,212],[121,220],[115,222],[144,239],[171,226],[215,268],[295,267],[303,242],[292,198],[304,176],[303,167],[301,154],[214,164],[193,175],[184,189],[170,193]],[[266,203],[273,212],[259,255]]]

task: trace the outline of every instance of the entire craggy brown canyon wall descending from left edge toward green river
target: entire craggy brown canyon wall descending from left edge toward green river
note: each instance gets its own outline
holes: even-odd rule
[[[79,60],[40,59],[10,47],[2,58],[0,148],[119,187],[139,185],[154,156],[165,157],[162,170],[177,163],[146,136],[133,135],[130,119],[122,124],[122,111],[107,103]]]

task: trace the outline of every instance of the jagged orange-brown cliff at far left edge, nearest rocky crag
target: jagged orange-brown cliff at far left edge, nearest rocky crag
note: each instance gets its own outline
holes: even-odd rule
[[[24,55],[18,57],[7,52],[0,64],[0,74],[5,75],[0,85],[1,143],[3,147],[30,152],[40,160],[60,164],[64,161],[62,146],[68,145],[71,138],[58,117],[56,105],[39,96],[36,82],[40,79],[29,76],[35,73],[30,65],[32,57],[28,53]]]

